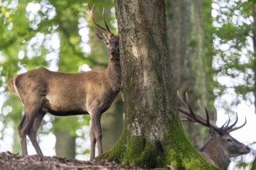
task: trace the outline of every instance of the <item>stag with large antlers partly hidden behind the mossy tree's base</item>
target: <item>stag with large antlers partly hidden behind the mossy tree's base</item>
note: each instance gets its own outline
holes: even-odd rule
[[[194,113],[192,107],[188,103],[188,96],[187,103],[182,100],[182,97],[180,97],[179,94],[178,99],[182,104],[182,106],[178,108],[182,121],[197,122],[209,128],[211,139],[200,149],[199,152],[210,164],[226,170],[230,165],[231,157],[244,155],[251,151],[247,145],[240,143],[240,141],[237,141],[235,138],[230,136],[231,131],[236,131],[237,129],[244,127],[246,120],[240,127],[234,128],[237,124],[238,118],[236,118],[236,121],[234,121],[233,124],[230,124],[229,119],[221,128],[218,128],[216,126],[216,112],[215,120],[209,121],[209,112],[207,109],[203,111],[202,107],[199,105],[201,111],[206,114],[206,117],[202,117],[199,114]]]

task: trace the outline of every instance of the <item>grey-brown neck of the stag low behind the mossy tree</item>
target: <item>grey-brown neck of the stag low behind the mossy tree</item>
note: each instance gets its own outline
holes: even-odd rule
[[[230,158],[226,149],[218,145],[218,142],[213,138],[200,151],[208,155],[214,164],[221,169],[226,170],[230,165]]]

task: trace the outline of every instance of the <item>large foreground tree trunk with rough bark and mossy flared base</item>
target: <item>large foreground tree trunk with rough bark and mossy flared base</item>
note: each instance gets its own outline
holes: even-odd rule
[[[164,1],[116,1],[125,128],[102,157],[144,168],[213,169],[190,145],[175,107]]]

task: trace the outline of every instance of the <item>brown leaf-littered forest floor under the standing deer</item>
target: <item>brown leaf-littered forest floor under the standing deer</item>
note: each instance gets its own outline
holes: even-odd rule
[[[81,169],[141,169],[126,167],[115,162],[106,162],[95,159],[92,162],[83,162],[75,159],[59,158],[56,156],[31,155],[22,157],[11,152],[0,153],[1,170],[81,170]]]

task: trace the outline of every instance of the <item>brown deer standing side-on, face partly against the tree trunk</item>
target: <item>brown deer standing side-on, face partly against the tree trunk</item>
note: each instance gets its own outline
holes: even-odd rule
[[[43,152],[36,140],[36,133],[43,116],[49,112],[57,116],[89,114],[90,121],[90,160],[95,158],[95,143],[99,155],[102,154],[102,128],[100,119],[109,109],[119,93],[121,73],[119,63],[119,39],[110,32],[104,19],[106,29],[99,26],[93,17],[93,10],[87,13],[95,25],[95,34],[106,42],[109,64],[105,70],[92,70],[84,73],[60,73],[39,68],[12,77],[9,90],[16,93],[24,104],[24,115],[18,126],[22,146],[22,155],[28,155],[26,135],[29,136],[38,155]]]

